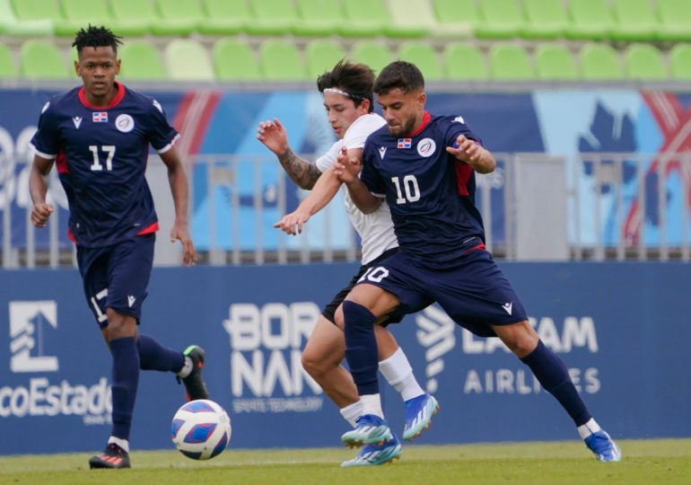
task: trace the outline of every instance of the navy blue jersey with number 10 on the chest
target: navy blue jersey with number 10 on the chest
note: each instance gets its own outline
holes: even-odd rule
[[[485,241],[475,171],[446,152],[460,134],[480,143],[461,117],[425,111],[415,133],[395,138],[380,128],[363,151],[361,179],[386,197],[401,250],[435,267],[457,260],[473,237]]]

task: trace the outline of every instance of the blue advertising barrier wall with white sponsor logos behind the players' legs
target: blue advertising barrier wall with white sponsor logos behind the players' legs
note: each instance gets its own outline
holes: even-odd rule
[[[541,338],[615,437],[691,437],[691,266],[503,263]],[[141,330],[207,351],[233,447],[338,445],[347,428],[300,366],[322,304],[351,264],[155,269]],[[109,433],[109,355],[75,270],[0,271],[0,454],[87,451]],[[442,403],[422,443],[575,439],[570,419],[496,339],[433,306],[392,327]],[[132,444],[171,448],[172,375],[140,379]],[[403,407],[381,386],[389,422]],[[267,430],[271,430],[267,433]],[[6,437],[12,437],[6,439]]]

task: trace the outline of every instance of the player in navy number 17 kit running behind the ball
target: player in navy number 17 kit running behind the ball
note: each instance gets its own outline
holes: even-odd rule
[[[144,178],[149,144],[168,168],[175,204],[171,242],[182,243],[186,265],[194,264],[197,253],[188,232],[188,180],[174,147],[179,135],[157,101],[115,81],[119,44],[105,27],[76,33],[74,69],[83,85],[46,103],[31,140],[31,222],[45,227],[54,211],[46,193],[55,163],[69,202],[68,235],[76,244],[86,301],[112,356],[113,426],[105,451],[89,460],[91,468],[130,467],[140,369],[176,374],[189,400],[208,397],[202,348],[171,350],[137,331],[158,230]]]

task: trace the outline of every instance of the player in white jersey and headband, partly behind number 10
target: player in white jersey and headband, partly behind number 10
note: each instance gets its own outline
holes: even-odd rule
[[[328,121],[338,139],[316,163],[309,163],[293,154],[288,145],[286,130],[280,121],[275,119],[259,124],[259,141],[278,156],[285,172],[295,183],[302,189],[312,190],[300,207],[293,214],[284,216],[276,223],[276,227],[281,227],[288,234],[295,234],[296,227],[297,231],[302,231],[302,225],[309,220],[311,214],[324,207],[341,186],[331,168],[341,147],[346,147],[348,153],[358,156],[362,152],[365,138],[385,124],[379,115],[372,112],[373,84],[372,69],[345,61],[319,76],[317,86],[323,94]],[[386,204],[365,215],[346,197],[346,210],[363,240],[363,266],[325,307],[302,352],[302,366],[336,403],[341,415],[355,427],[356,419],[363,414],[363,402],[358,398],[352,376],[340,365],[345,357],[345,340],[343,331],[335,325],[335,313],[344,297],[368,268],[398,252],[398,242]],[[391,313],[382,315],[380,320],[389,323],[399,322],[401,318],[402,315],[392,309]],[[374,331],[379,343],[379,365],[375,362],[372,370],[376,374],[379,367],[389,384],[400,392],[406,407],[403,438],[411,440],[429,426],[439,405],[417,383],[406,355],[398,348],[389,331],[380,325],[376,325]],[[343,463],[343,466],[387,463],[400,454],[401,446],[392,435],[382,444],[365,446],[362,453],[354,460]]]

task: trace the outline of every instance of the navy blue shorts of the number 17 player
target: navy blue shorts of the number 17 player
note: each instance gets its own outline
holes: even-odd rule
[[[136,236],[104,248],[77,246],[84,295],[101,329],[108,326],[106,308],[139,322],[153,267],[155,234]]]

